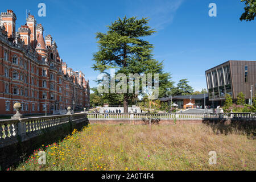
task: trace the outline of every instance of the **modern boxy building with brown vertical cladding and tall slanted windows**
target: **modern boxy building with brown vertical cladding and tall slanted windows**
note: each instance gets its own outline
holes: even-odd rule
[[[250,99],[251,85],[256,94],[256,61],[226,61],[205,71],[205,76],[209,100],[224,100],[227,93],[236,99],[239,92]]]

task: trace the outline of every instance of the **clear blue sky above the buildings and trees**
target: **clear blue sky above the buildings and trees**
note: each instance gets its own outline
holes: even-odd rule
[[[46,4],[46,17],[38,4]],[[209,3],[216,3],[217,17],[210,17]],[[176,83],[188,78],[195,90],[206,88],[205,71],[228,60],[256,60],[256,20],[241,22],[240,0],[119,0],[119,1],[4,1],[1,12],[14,10],[16,30],[26,23],[26,10],[42,23],[56,41],[61,59],[93,80],[92,55],[97,52],[96,32],[106,32],[123,16],[150,18],[157,31],[146,38],[154,44],[154,57],[164,61]]]

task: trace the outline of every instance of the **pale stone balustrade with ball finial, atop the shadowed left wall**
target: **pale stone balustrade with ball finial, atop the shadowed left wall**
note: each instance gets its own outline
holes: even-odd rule
[[[61,115],[48,115],[40,117],[27,117],[23,118],[23,115],[19,113],[21,105],[17,102],[14,104],[16,114],[11,119],[0,120],[0,147],[5,146],[12,140],[26,140],[32,135],[38,135],[40,131],[65,123],[71,123],[76,125],[80,122],[87,121],[86,113],[72,113],[69,109],[69,113]]]

